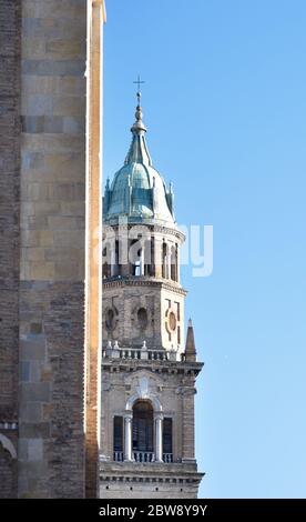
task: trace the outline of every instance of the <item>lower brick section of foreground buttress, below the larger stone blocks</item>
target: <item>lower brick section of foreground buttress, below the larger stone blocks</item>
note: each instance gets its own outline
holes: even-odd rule
[[[83,283],[21,285],[21,496],[83,498]]]

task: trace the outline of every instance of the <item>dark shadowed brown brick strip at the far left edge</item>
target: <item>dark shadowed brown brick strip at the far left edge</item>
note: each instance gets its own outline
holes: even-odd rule
[[[17,450],[20,185],[19,0],[0,0],[0,435]],[[12,429],[13,425],[13,429]],[[0,498],[17,496],[17,460],[0,442]]]

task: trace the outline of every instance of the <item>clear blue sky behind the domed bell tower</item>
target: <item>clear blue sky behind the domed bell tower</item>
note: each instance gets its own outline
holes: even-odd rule
[[[201,496],[306,496],[306,2],[109,0],[104,175],[130,144],[139,72],[180,223],[213,224],[186,319],[198,357]]]

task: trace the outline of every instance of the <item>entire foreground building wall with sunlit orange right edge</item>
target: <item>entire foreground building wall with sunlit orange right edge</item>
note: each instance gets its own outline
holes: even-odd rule
[[[101,147],[101,74],[99,122],[85,132],[93,103],[92,3],[100,36],[101,1],[0,2],[7,42],[0,77],[7,103],[0,180],[3,498],[96,491],[100,324],[90,330],[89,317],[99,315],[100,272],[88,254],[100,241],[101,168],[91,159]],[[85,446],[93,459],[88,465]]]

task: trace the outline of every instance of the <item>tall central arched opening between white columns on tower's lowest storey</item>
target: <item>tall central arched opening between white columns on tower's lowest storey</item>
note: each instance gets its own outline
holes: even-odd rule
[[[136,462],[153,460],[153,408],[139,400],[133,406],[133,456]]]

